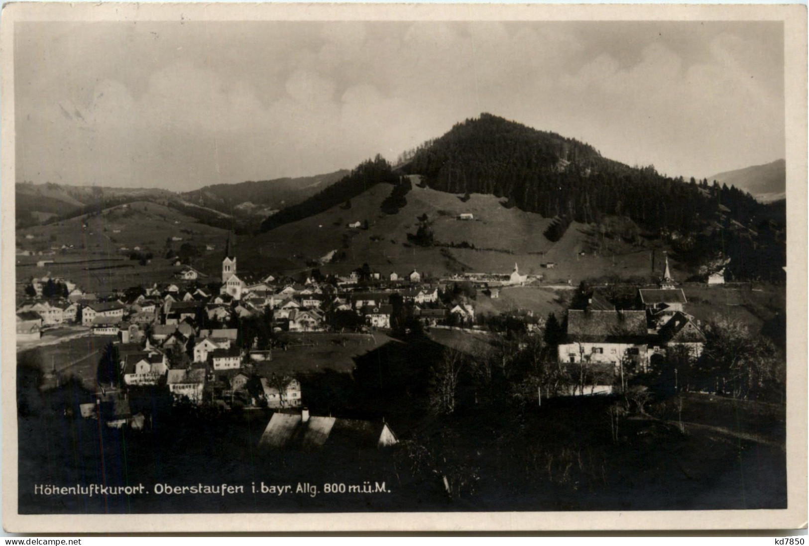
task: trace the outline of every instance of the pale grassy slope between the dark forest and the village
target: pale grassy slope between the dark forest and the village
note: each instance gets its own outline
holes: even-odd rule
[[[350,209],[333,206],[257,235],[249,248],[247,244],[239,248],[239,263],[260,272],[289,273],[303,271],[307,262],[337,250],[345,252],[345,258],[320,266],[321,272],[345,274],[368,263],[386,275],[410,269],[434,276],[462,271],[510,273],[516,262],[523,273],[543,273],[549,281],[576,283],[613,273],[648,277],[650,248],[662,246],[644,241],[646,247],[634,247],[618,239],[599,244],[593,226],[578,222],[560,240],[551,242],[543,235],[550,218],[506,208],[505,200],[492,195],[472,194],[464,202],[464,196],[419,184],[413,184],[405,196],[406,205],[397,214],[385,214],[382,204],[391,192],[390,184],[377,184],[352,199]],[[472,213],[474,219],[459,220],[461,213]],[[425,214],[435,242],[455,248],[422,248],[408,241],[407,235],[416,233],[419,218]],[[353,222],[367,222],[368,229],[349,228],[347,224]],[[457,248],[461,243],[474,248]],[[540,267],[549,261],[557,264],[555,269]]]

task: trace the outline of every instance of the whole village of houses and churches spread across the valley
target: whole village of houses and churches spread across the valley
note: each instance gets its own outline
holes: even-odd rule
[[[79,411],[111,428],[147,426],[146,416],[130,409],[129,392],[151,389],[166,392],[175,405],[277,410],[261,441],[266,446],[284,447],[294,436],[291,430],[303,426],[320,430],[312,438],[321,444],[328,438],[323,427],[336,432],[353,427],[371,431],[369,446],[383,447],[397,441],[387,424],[341,419],[335,426],[335,417],[309,417],[296,377],[303,370],[273,366],[273,355],[294,350],[290,335],[350,334],[375,343],[379,335],[443,329],[487,338],[497,335],[497,328],[476,315],[477,293],[497,299],[504,288],[536,286],[542,278],[519,273],[517,264],[510,274],[439,279],[424,278],[417,270],[381,273],[367,265],[345,277],[253,278],[239,270],[232,248],[228,236],[221,277],[207,277],[178,261],[166,282],[103,298],[66,279],[32,278],[17,309],[18,344],[36,346],[49,332],[108,340],[98,369],[90,368],[95,373],[83,378],[95,400],[80,404]],[[687,298],[667,259],[659,286],[638,289],[633,309],[617,310],[598,290],[582,295],[583,305],[567,311],[558,362],[603,373],[588,374],[587,382],[571,385],[567,395],[609,394],[615,378],[648,370],[672,350],[686,350],[692,358],[701,353],[705,335],[686,311]],[[515,318],[529,336],[544,332],[544,317],[527,311]],[[58,385],[68,373],[56,362],[51,365],[43,387]]]

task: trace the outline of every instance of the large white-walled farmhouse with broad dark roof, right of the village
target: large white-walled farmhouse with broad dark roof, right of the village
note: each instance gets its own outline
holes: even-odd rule
[[[559,362],[609,364],[618,368],[627,360],[646,366],[649,336],[646,311],[567,312],[565,342]]]

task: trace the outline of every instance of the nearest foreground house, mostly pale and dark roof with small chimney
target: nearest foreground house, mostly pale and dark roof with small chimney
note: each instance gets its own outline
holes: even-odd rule
[[[380,449],[398,442],[385,421],[360,421],[318,417],[303,409],[300,414],[273,413],[259,447],[318,451],[320,449]]]

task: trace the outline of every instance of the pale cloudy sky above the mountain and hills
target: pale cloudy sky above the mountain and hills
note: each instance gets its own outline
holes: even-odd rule
[[[489,112],[668,176],[785,155],[781,23],[18,23],[17,180],[310,176]]]

